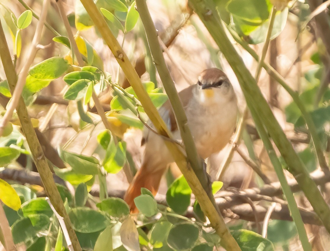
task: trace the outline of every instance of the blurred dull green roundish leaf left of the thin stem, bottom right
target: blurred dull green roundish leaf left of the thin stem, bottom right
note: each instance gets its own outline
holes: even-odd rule
[[[292,221],[271,220],[267,227],[267,239],[273,243],[285,244],[298,235],[296,225]]]

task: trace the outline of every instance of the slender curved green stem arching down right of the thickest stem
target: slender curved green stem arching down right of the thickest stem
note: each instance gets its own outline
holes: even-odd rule
[[[250,53],[251,56],[256,61],[259,61],[259,57],[258,57],[257,53],[248,45],[247,42],[240,39],[240,37],[237,35],[237,33],[234,32],[230,28],[229,28],[229,32],[236,42],[238,42],[248,53]],[[289,85],[285,82],[284,78],[280,75],[280,73],[278,73],[268,63],[263,61],[262,67],[268,72],[268,74],[270,76],[272,76],[289,93],[289,95],[292,97],[293,101],[297,104],[299,110],[301,111],[303,118],[306,121],[307,127],[309,129],[309,134],[311,135],[313,146],[314,146],[320,167],[323,170],[323,172],[328,173],[329,167],[325,160],[325,156],[323,154],[322,144],[321,144],[320,138],[317,135],[315,124],[313,122],[311,114],[306,110],[304,103],[299,98],[299,94],[297,92],[293,91],[289,87]]]

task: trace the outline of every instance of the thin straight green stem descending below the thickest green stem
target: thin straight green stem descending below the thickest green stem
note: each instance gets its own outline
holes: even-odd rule
[[[253,109],[253,111],[251,110],[251,113],[256,113],[255,110]],[[304,249],[304,251],[312,251],[312,246],[308,241],[308,237],[307,237],[307,233],[306,233],[306,229],[304,226],[304,222],[303,219],[301,218],[296,200],[294,198],[294,195],[290,189],[290,186],[287,182],[287,180],[285,179],[285,175],[282,169],[282,165],[281,162],[279,160],[279,158],[276,155],[276,152],[272,146],[271,141],[268,138],[268,134],[264,128],[264,126],[262,125],[260,119],[255,119],[254,123],[257,127],[258,133],[260,135],[260,138],[262,139],[264,146],[267,150],[268,156],[274,166],[275,172],[277,177],[279,178],[279,181],[281,183],[281,187],[283,190],[283,193],[285,195],[286,201],[288,202],[288,207],[290,209],[291,212],[291,216],[292,219],[296,225],[297,231],[298,231],[298,235],[299,235],[299,239],[301,241],[301,245]]]

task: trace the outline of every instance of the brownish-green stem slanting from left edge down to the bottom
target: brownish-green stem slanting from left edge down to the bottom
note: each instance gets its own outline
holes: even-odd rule
[[[7,77],[9,88],[13,94],[17,82],[17,75],[15,68],[12,62],[12,58],[9,52],[8,44],[5,38],[4,31],[2,29],[1,20],[0,20],[0,57],[2,65]],[[34,131],[33,125],[31,123],[30,117],[28,115],[24,100],[22,97],[19,98],[18,105],[16,107],[17,115],[22,126],[23,133],[26,137],[26,141],[29,145],[32,157],[40,178],[45,187],[46,193],[49,197],[51,204],[54,206],[59,215],[64,218],[66,228],[69,232],[70,239],[72,241],[75,251],[81,251],[82,248],[78,242],[75,231],[72,228],[69,216],[64,208],[63,201],[55,185],[52,173],[50,171],[48,161],[43,153],[41,145],[38,141],[36,133]]]

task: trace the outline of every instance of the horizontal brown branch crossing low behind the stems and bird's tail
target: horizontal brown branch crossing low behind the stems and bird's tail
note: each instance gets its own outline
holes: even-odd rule
[[[58,184],[65,185],[64,181],[53,175],[54,180]],[[330,177],[325,176],[322,172],[317,171],[312,175],[313,180],[316,184],[321,185],[327,182],[330,182]],[[41,179],[38,173],[36,172],[27,172],[26,170],[16,170],[16,169],[4,169],[0,171],[0,179],[3,180],[12,180],[18,181],[21,183],[29,183],[36,184],[42,186]],[[297,192],[300,190],[298,184],[294,180],[288,181],[291,186],[292,191]],[[92,187],[90,194],[93,196],[99,196],[98,187]],[[109,197],[123,198],[125,194],[125,190],[116,189],[108,191]],[[43,196],[43,194],[41,194]],[[280,220],[290,220],[292,218],[290,216],[290,212],[285,204],[285,201],[282,201],[278,198],[271,198],[269,196],[277,196],[281,195],[281,186],[280,182],[273,182],[270,185],[265,185],[261,188],[249,188],[245,190],[234,190],[230,191],[220,191],[216,194],[215,202],[216,205],[222,210],[222,213],[225,217],[228,218],[240,218],[243,220],[248,220],[254,222],[255,219],[259,222],[262,222],[265,218],[267,209],[266,207],[260,205],[254,205],[254,209],[251,208],[250,204],[246,203],[246,199],[250,199],[251,201],[261,201],[267,200],[277,202],[277,206],[271,215],[271,219],[280,219]],[[157,194],[155,197],[158,204],[167,206],[165,195]],[[191,200],[191,205],[194,200]],[[302,215],[303,221],[306,224],[314,224],[321,225],[321,222],[317,215],[313,211],[307,211],[304,209],[300,209],[300,213]],[[195,217],[192,211],[192,207],[189,207],[187,217]]]

